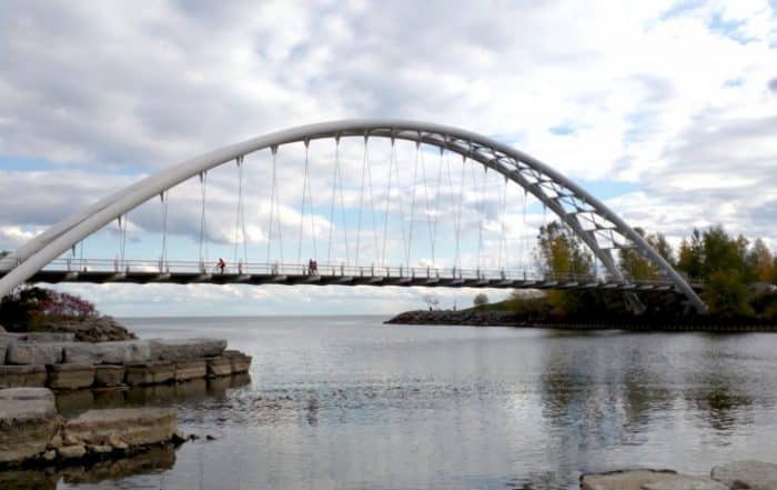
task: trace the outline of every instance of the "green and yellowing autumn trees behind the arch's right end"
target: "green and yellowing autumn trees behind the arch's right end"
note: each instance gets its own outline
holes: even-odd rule
[[[722,226],[695,228],[675,250],[662,233],[635,229],[700,296],[710,316],[726,319],[777,320],[777,257],[760,238],[753,241],[729,234]],[[553,221],[539,228],[534,260],[548,276],[606,276],[591,250],[565,224]],[[614,258],[620,272],[634,280],[666,279],[636,248],[619,249]],[[640,293],[647,316],[670,319],[694,312],[675,293]],[[549,291],[542,298],[521,292],[509,301],[513,309],[553,318],[596,319],[626,314],[623,293],[606,291]]]

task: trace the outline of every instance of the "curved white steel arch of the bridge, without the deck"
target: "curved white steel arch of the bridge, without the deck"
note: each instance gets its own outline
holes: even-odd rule
[[[420,141],[467,157],[531,192],[586,243],[617,280],[624,280],[612,250],[634,248],[670,279],[699,311],[706,306],[687,281],[647,241],[594,196],[553,168],[509,146],[472,131],[412,120],[352,119],[301,126],[220,148],[140,180],[54,224],[0,260],[0,297],[23,283],[80,240],[170,188],[236,158],[314,139],[382,137]],[[633,306],[639,309],[636,297]]]

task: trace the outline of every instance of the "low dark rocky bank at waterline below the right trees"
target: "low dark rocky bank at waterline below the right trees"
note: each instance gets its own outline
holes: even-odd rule
[[[608,320],[527,319],[507,310],[414,310],[402,312],[384,323],[515,327],[559,330],[642,330],[642,331],[708,331],[708,332],[775,332],[777,324],[758,321],[726,321],[715,317],[664,320],[652,317],[630,317]]]

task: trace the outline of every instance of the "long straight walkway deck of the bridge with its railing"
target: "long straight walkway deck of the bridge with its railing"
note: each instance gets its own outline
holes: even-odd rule
[[[128,260],[119,270],[114,260],[54,260],[38,271],[33,282],[123,282],[145,284],[313,284],[313,286],[422,286],[427,288],[496,289],[603,289],[614,291],[672,291],[670,281],[576,276],[537,276],[516,270],[434,269],[403,267],[319,266],[311,273],[304,264],[248,263],[206,270],[199,262]],[[162,267],[162,269],[160,269]],[[2,272],[0,272],[0,278]]]

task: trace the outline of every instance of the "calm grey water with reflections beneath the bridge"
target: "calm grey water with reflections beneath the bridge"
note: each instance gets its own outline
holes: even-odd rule
[[[135,394],[216,439],[58,488],[565,489],[583,471],[777,454],[777,334],[382,320],[128,320],[143,338],[226,338],[251,379]]]

